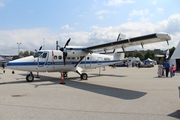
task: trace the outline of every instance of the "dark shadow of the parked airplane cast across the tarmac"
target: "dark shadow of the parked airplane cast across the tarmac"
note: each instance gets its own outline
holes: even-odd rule
[[[21,74],[21,75],[26,76],[25,74]],[[99,76],[99,74],[95,74],[95,76],[89,76],[89,77],[96,77],[96,76]],[[107,76],[107,74],[104,76]],[[113,76],[113,75],[111,75],[111,76]],[[114,77],[125,77],[125,76],[114,76]],[[33,85],[34,88],[37,88],[39,86],[59,84],[60,80],[61,80],[60,77],[59,78],[53,78],[53,77],[41,75],[40,79],[35,79],[33,82],[27,82],[25,80],[25,77],[24,77],[24,78],[16,78],[16,81],[5,82],[5,83],[6,84],[28,83],[30,85]],[[43,82],[51,82],[51,83],[43,83]],[[73,87],[76,89],[81,89],[81,90],[85,90],[88,92],[97,93],[97,94],[106,95],[106,96],[111,96],[111,97],[120,98],[120,99],[125,99],[125,100],[138,99],[138,98],[147,94],[145,92],[140,92],[140,91],[90,84],[90,83],[85,82],[84,80],[80,80],[79,77],[65,78],[65,83],[66,84],[64,84],[64,86]],[[0,85],[3,85],[3,84],[0,84]]]

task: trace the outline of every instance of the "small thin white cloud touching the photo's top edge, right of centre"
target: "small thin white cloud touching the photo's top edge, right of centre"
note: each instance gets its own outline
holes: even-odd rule
[[[134,3],[134,0],[109,0],[107,3],[104,3],[106,6],[120,5],[120,4],[130,4]]]

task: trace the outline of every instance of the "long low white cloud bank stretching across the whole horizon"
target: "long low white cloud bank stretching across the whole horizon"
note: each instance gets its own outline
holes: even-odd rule
[[[43,45],[45,38],[45,49],[55,49],[56,41],[60,46],[64,46],[66,41],[71,38],[69,45],[91,46],[101,43],[116,41],[119,33],[125,34],[127,38],[155,32],[167,32],[172,40],[168,46],[166,42],[152,43],[144,45],[145,49],[167,49],[176,47],[180,38],[180,14],[169,16],[168,19],[157,23],[146,22],[126,22],[119,26],[99,27],[92,26],[91,31],[79,31],[68,33],[53,33],[47,28],[1,30],[0,31],[0,54],[17,54],[17,42],[21,42],[22,51],[34,51]],[[141,46],[126,48],[126,50],[141,49]]]

